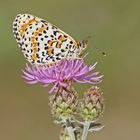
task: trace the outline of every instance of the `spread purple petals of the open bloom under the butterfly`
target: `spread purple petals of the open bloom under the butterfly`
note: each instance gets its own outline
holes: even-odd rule
[[[82,84],[98,84],[102,76],[99,72],[92,72],[97,63],[88,66],[83,59],[61,60],[60,63],[51,67],[48,66],[28,66],[23,70],[23,78],[29,84],[42,83],[44,87],[53,84],[49,91],[52,93],[57,87],[66,88],[69,82]]]

